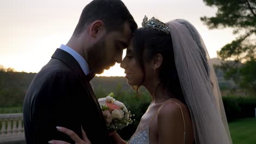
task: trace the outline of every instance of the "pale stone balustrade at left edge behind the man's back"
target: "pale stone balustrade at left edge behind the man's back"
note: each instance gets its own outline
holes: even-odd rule
[[[25,140],[22,113],[0,114],[0,143]]]

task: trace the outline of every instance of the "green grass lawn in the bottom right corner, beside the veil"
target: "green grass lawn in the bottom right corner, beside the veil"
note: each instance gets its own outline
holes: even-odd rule
[[[230,122],[229,130],[234,144],[256,143],[256,118],[237,119]]]

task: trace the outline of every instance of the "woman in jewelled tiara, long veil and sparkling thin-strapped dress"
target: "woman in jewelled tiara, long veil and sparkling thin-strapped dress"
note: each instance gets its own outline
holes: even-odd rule
[[[145,16],[121,63],[127,83],[144,86],[152,103],[128,143],[232,143],[216,74],[205,44],[186,20]],[[76,143],[90,143],[58,127]],[[127,143],[110,133],[115,143]],[[66,143],[52,140],[49,143]]]

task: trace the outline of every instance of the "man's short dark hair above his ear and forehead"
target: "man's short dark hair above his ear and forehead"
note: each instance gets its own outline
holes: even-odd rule
[[[120,0],[94,0],[82,11],[74,34],[79,35],[91,22],[101,20],[107,32],[122,31],[125,22],[129,23],[133,32],[138,26],[130,11]]]

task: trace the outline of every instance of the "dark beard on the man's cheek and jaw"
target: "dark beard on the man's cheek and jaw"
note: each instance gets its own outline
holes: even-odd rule
[[[101,74],[106,67],[106,48],[105,37],[101,38],[96,44],[88,49],[88,64],[90,65],[90,73]]]

